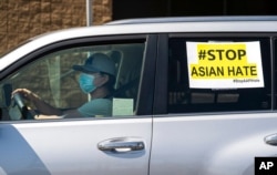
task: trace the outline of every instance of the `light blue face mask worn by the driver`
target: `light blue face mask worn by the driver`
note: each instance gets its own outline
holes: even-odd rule
[[[94,85],[94,75],[81,73],[79,78],[79,85],[84,93],[91,93],[96,89]]]

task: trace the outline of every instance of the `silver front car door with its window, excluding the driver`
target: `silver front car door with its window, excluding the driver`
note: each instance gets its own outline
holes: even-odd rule
[[[7,68],[0,82],[0,174],[148,174],[155,42],[154,35],[71,39]],[[112,116],[22,120],[10,100],[16,89],[29,89],[60,110],[89,101],[72,65],[96,52],[116,66]]]

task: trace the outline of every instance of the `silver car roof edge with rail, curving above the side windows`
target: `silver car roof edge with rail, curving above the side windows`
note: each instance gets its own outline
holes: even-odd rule
[[[146,18],[71,28],[32,38],[0,59],[0,71],[19,58],[44,45],[85,37],[185,32],[276,32],[277,17],[187,17]]]

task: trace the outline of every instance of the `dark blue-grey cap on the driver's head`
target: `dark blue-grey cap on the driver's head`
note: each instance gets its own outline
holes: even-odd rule
[[[89,56],[83,65],[73,65],[75,71],[81,71],[85,73],[107,73],[115,76],[115,64],[104,53],[94,53]]]

